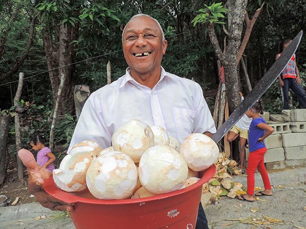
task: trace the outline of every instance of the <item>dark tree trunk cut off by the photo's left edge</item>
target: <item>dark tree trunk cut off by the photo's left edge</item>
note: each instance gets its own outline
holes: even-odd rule
[[[9,135],[10,116],[0,115],[0,187],[4,183],[6,175],[6,150]]]

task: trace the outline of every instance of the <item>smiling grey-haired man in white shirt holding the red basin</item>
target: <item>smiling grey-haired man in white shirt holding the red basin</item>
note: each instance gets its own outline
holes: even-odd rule
[[[180,142],[191,133],[211,136],[216,132],[200,85],[168,73],[161,66],[167,41],[156,19],[144,14],[132,17],[123,30],[122,47],[129,68],[118,80],[90,95],[75,127],[68,152],[72,146],[86,139],[96,141],[103,148],[110,147],[115,130],[131,119],[141,120],[150,126],[161,126]],[[21,155],[25,162],[24,158]],[[42,171],[37,167],[34,171],[31,167],[35,166],[28,166],[31,178],[29,190],[34,195],[36,192],[33,190],[37,190],[40,194],[38,201],[52,210],[72,211],[73,207],[54,201],[46,193],[47,197],[41,199],[42,176],[38,173]],[[35,176],[40,178],[39,181]],[[208,228],[201,205],[199,213],[196,228]]]

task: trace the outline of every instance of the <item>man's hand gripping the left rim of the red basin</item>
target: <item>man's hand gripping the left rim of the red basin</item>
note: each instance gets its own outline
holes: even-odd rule
[[[19,150],[18,156],[21,159],[22,163],[28,168],[29,192],[35,195],[37,201],[43,207],[51,210],[68,212],[74,210],[73,206],[67,205],[66,203],[59,201],[58,199],[56,199],[52,195],[49,195],[42,189],[44,180],[48,179],[51,176],[51,172],[48,169],[39,166],[30,151],[25,149]]]

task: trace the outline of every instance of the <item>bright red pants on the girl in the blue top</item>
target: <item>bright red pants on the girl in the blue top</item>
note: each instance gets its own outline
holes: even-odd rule
[[[256,151],[253,151],[249,154],[246,174],[247,174],[247,194],[253,195],[254,194],[254,186],[255,186],[255,179],[254,174],[256,168],[260,172],[265,189],[271,189],[269,176],[267,174],[265,164],[264,164],[264,157],[265,153],[267,152],[267,148],[262,148]]]

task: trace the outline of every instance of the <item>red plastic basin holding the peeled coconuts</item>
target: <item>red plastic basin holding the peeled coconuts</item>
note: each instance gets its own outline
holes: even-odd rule
[[[69,214],[77,229],[194,229],[202,185],[215,173],[216,166],[213,164],[202,172],[198,182],[187,188],[139,199],[102,200],[81,197],[79,195],[82,194],[59,189],[53,177],[45,180],[43,188],[60,201],[74,205],[74,211]]]

